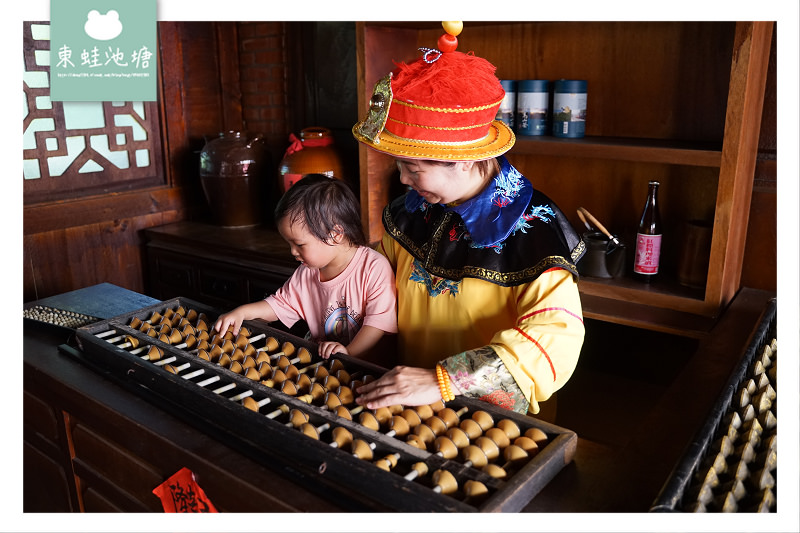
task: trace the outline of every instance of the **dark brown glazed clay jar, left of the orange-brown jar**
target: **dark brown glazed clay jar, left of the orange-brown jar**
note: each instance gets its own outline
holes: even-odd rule
[[[200,181],[214,220],[225,227],[260,224],[271,167],[260,134],[228,131],[208,141],[200,152]]]

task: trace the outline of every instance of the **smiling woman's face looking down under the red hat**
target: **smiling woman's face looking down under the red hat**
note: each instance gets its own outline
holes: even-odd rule
[[[452,165],[440,165],[430,161],[417,159],[397,159],[400,170],[400,182],[411,187],[426,202],[431,204],[449,204],[461,202],[477,194],[482,181],[476,183],[475,168],[470,163],[455,162]],[[480,179],[480,173],[477,174]]]

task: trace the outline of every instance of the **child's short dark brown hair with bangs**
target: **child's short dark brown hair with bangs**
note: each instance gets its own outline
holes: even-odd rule
[[[275,207],[276,222],[287,216],[292,224],[305,224],[326,244],[331,244],[332,234],[339,231],[354,246],[367,244],[358,199],[344,181],[323,174],[303,177],[289,187]]]

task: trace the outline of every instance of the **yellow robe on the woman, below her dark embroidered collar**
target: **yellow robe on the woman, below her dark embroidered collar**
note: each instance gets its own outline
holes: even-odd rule
[[[572,375],[583,344],[580,296],[573,275],[550,269],[535,281],[502,287],[464,278],[455,291],[431,296],[412,276],[414,258],[384,234],[379,251],[395,270],[400,363],[432,368],[466,350],[490,346],[505,364],[529,411]]]

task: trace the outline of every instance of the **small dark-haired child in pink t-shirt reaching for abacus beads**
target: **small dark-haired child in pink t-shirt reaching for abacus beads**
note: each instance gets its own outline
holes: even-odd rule
[[[237,335],[244,320],[291,327],[302,319],[324,359],[361,357],[384,333],[397,332],[392,267],[366,245],[358,201],[345,182],[304,177],[278,202],[275,221],[300,266],[275,294],[220,316],[215,330],[233,326]]]

